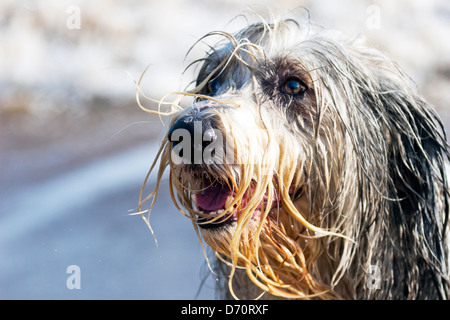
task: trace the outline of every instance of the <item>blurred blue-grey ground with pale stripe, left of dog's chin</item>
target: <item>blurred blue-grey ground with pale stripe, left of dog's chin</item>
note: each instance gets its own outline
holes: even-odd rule
[[[151,216],[158,246],[140,216],[129,215],[155,148],[142,145],[26,185],[0,185],[0,298],[194,299],[209,271],[167,182]],[[71,265],[80,272],[67,273]],[[69,282],[81,288],[70,290],[75,274]],[[213,282],[209,277],[197,298],[213,299]]]

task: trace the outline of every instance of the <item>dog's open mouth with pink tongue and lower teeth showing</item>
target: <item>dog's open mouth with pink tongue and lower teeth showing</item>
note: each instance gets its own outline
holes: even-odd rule
[[[202,229],[218,229],[236,223],[239,216],[250,205],[255,188],[256,182],[252,181],[242,198],[236,200],[237,193],[230,188],[229,184],[214,181],[203,186],[200,192],[191,196],[198,211],[197,224]],[[248,214],[251,214],[252,220],[259,221],[261,213],[265,212],[268,207],[270,212],[280,208],[280,205],[278,194],[274,192],[269,203],[269,196],[266,191],[262,200],[259,201],[256,207],[252,205],[254,209]]]

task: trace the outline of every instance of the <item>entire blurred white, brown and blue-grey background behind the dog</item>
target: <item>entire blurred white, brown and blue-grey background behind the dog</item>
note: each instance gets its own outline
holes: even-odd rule
[[[134,80],[150,66],[146,95],[183,88],[190,46],[212,30],[236,31],[233,18],[264,5],[303,6],[324,27],[366,37],[415,80],[448,130],[448,0],[3,0],[1,299],[215,298],[166,180],[150,217],[157,244],[129,215],[167,129],[138,108]]]

